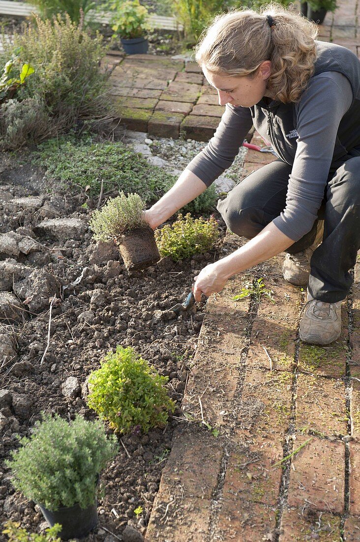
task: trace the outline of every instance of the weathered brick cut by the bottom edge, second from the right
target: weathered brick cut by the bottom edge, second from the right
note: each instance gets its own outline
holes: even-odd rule
[[[279,542],[304,542],[305,540],[341,540],[340,518],[312,508],[289,508],[283,511]]]

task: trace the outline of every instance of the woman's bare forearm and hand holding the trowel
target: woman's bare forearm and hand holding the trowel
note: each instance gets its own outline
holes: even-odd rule
[[[194,297],[200,301],[201,292],[209,296],[220,292],[227,279],[249,267],[269,260],[293,244],[293,240],[283,234],[272,222],[251,241],[238,248],[222,260],[201,269],[195,278]]]

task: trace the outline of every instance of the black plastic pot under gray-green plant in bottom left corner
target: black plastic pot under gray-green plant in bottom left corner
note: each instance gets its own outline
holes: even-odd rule
[[[41,505],[39,508],[50,527],[55,523],[62,525],[62,530],[58,534],[61,540],[85,537],[97,525],[97,502],[88,508],[80,508],[76,504],[70,508],[59,508],[56,512],[51,512]]]

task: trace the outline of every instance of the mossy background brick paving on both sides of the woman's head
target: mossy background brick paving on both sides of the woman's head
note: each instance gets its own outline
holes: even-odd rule
[[[360,57],[360,2],[338,0],[319,27],[319,39],[348,47]],[[224,107],[194,62],[153,55],[109,55],[114,114],[129,130],[161,137],[210,139]]]

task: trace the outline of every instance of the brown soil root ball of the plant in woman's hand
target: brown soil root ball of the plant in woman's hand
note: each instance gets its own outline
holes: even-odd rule
[[[145,269],[160,260],[154,231],[150,227],[129,230],[116,244],[128,271]]]

